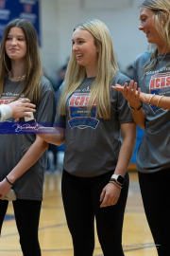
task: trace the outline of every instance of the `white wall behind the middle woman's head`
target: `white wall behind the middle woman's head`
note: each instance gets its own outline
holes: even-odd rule
[[[98,2],[97,2],[98,1]],[[121,5],[117,5],[118,2]],[[42,65],[54,77],[71,54],[73,28],[77,23],[97,18],[110,29],[118,64],[126,70],[147,41],[139,26],[139,6],[143,0],[42,0]],[[125,2],[125,5],[123,4]],[[100,3],[100,5],[96,5]],[[112,8],[111,8],[112,7]],[[120,8],[121,7],[121,8]]]

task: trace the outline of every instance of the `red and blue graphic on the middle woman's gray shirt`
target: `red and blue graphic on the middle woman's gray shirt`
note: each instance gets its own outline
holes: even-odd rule
[[[96,119],[97,106],[96,101],[93,101],[91,116],[88,115],[87,105],[89,101],[89,93],[75,93],[69,101],[69,115],[68,121],[71,129],[77,127],[85,129],[91,127],[96,129],[99,120]]]

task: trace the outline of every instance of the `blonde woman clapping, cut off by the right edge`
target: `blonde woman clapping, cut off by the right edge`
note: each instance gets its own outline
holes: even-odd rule
[[[144,129],[136,155],[139,182],[158,254],[164,256],[169,254],[170,229],[170,1],[144,1],[139,29],[152,50],[135,60],[135,83],[117,86],[117,90],[122,91],[133,119]]]

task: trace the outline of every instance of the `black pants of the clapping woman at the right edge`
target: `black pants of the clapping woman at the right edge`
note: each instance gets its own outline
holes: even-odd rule
[[[153,174],[139,173],[144,211],[159,256],[169,255],[170,169]]]

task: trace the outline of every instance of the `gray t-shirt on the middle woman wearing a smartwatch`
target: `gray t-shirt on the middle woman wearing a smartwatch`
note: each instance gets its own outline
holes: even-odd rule
[[[127,101],[110,85],[110,119],[100,119],[96,101],[92,114],[87,113],[90,89],[95,78],[86,78],[69,98],[66,116],[56,116],[55,125],[65,123],[65,155],[63,168],[68,173],[93,177],[113,171],[121,147],[120,123],[133,122]],[[117,72],[112,85],[129,79]],[[61,89],[60,89],[61,91]]]

